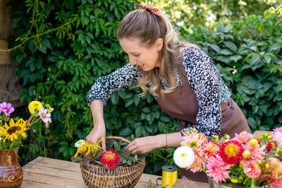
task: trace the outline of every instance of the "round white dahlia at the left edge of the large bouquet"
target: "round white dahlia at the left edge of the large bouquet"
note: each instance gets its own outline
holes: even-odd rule
[[[173,160],[180,168],[188,168],[195,160],[195,154],[189,146],[180,146],[174,151]]]

